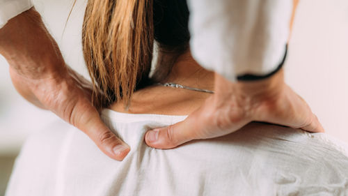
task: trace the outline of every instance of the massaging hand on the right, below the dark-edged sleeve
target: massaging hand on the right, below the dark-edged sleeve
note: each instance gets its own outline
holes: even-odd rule
[[[216,75],[214,89],[214,95],[184,121],[148,131],[146,144],[171,149],[191,140],[233,133],[251,121],[324,132],[306,101],[284,83],[283,70],[257,82],[232,83]]]

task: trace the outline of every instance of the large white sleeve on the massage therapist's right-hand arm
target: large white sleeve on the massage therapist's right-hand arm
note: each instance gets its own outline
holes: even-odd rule
[[[191,53],[230,81],[265,75],[283,61],[292,0],[189,0]]]

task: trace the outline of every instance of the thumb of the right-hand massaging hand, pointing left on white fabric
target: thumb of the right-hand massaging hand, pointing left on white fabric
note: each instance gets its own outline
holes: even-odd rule
[[[148,130],[145,142],[156,149],[172,149],[180,144],[198,139],[195,116],[189,116],[184,121],[164,128]]]

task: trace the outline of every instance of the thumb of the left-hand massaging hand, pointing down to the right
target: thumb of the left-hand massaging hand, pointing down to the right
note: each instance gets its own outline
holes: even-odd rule
[[[102,119],[100,119],[100,114],[92,105],[89,103],[85,104],[84,107],[81,107],[84,110],[72,114],[76,115],[72,116],[74,126],[83,130],[107,156],[115,160],[123,160],[129,153],[130,147],[111,132]],[[79,107],[79,105],[75,107]]]

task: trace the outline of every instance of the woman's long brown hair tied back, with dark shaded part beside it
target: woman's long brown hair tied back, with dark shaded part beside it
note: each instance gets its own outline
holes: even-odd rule
[[[153,80],[168,75],[187,50],[189,10],[185,0],[88,0],[82,31],[84,59],[93,82],[93,104],[129,106],[136,89],[151,84],[154,41],[159,58]]]

